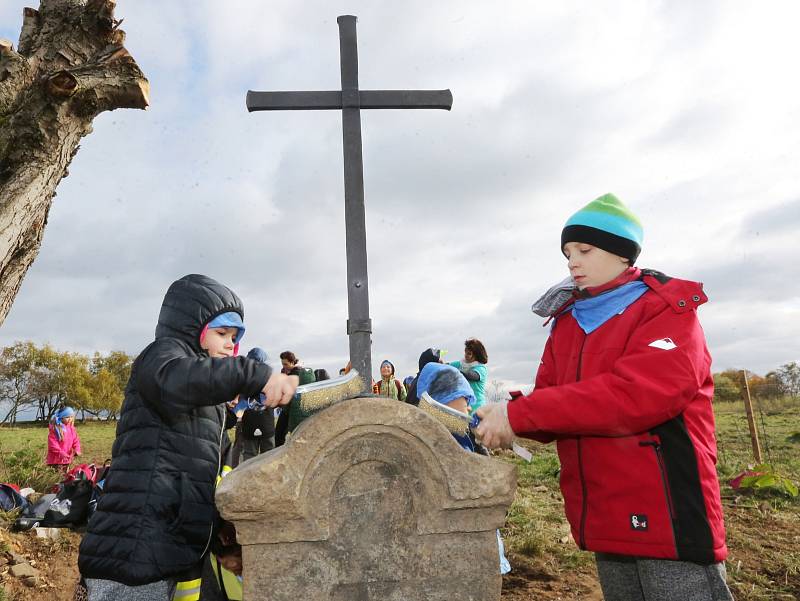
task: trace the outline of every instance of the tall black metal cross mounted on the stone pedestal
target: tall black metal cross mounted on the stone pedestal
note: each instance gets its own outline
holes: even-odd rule
[[[361,159],[361,109],[446,109],[450,90],[359,90],[356,18],[339,24],[342,89],[319,92],[247,92],[248,111],[341,109],[344,142],[344,206],[347,247],[347,334],[350,361],[367,380],[372,374],[372,320],[369,317],[367,226],[364,217],[364,165]]]

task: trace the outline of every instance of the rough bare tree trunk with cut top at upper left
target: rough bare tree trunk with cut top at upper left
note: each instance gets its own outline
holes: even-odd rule
[[[117,108],[144,109],[149,84],[123,46],[113,0],[41,0],[16,51],[0,40],[0,325],[39,252],[61,178]]]

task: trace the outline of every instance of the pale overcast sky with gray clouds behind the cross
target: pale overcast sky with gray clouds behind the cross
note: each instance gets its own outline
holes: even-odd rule
[[[0,4],[15,47],[28,4]],[[341,14],[359,18],[362,89],[454,97],[362,112],[376,374],[474,336],[490,379],[529,384],[546,336],[530,305],[567,275],[566,219],[606,192],[644,224],[640,266],[704,282],[715,371],[800,359],[789,0],[118,0],[151,107],[95,120],[0,345],[136,354],[169,284],[205,273],[244,300],[245,349],[338,370],[341,114],[250,114],[245,94],[338,89]]]

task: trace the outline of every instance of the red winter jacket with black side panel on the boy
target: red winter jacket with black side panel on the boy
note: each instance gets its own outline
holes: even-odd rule
[[[727,556],[701,284],[631,269],[647,290],[590,334],[556,317],[534,391],[509,403],[522,436],[558,440],[582,549],[698,563]],[[605,287],[604,287],[605,288]],[[596,291],[597,292],[597,291]]]

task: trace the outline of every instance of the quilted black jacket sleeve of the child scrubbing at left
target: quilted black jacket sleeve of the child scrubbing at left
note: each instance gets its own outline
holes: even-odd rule
[[[246,357],[197,356],[177,340],[161,339],[141,357],[137,385],[150,403],[186,412],[227,403],[238,394],[257,395],[270,375],[268,365]]]

